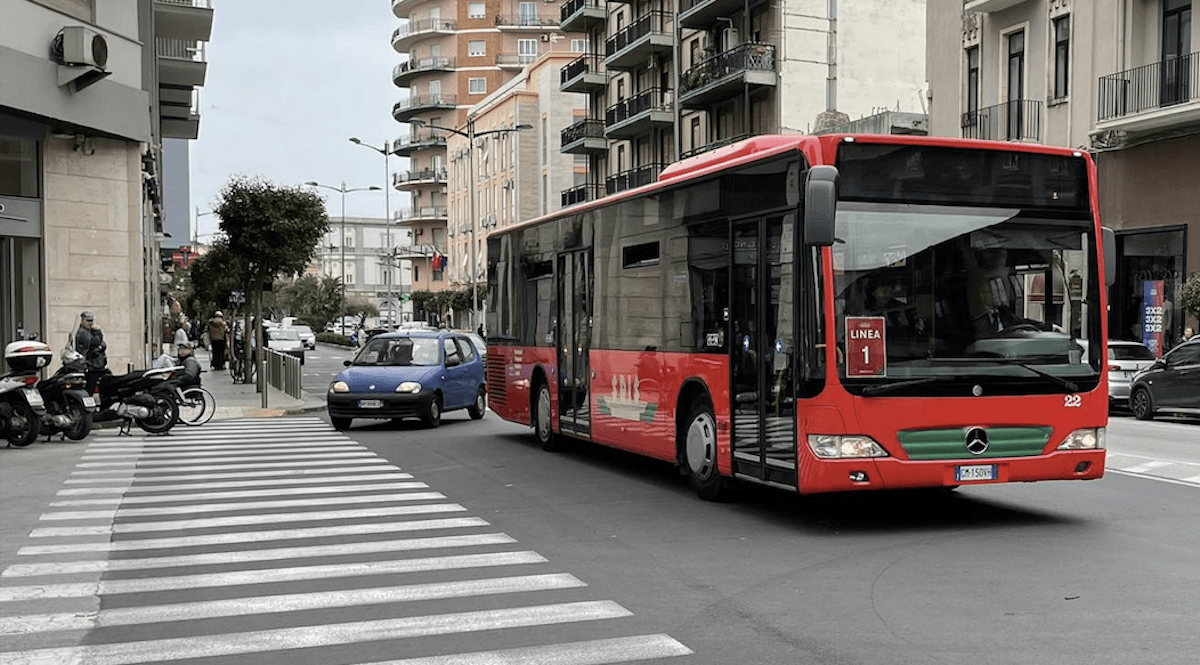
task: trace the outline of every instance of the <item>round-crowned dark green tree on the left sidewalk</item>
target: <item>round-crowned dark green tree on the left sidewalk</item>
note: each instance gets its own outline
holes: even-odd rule
[[[250,312],[263,320],[263,288],[280,275],[296,275],[316,254],[320,239],[329,233],[325,203],[302,187],[275,185],[264,178],[235,175],[217,196],[212,212],[221,220],[228,264],[224,269],[245,277],[246,330]],[[262,325],[254,325],[257,347],[263,348]],[[244,345],[250,363],[250,347]],[[259,390],[265,390],[259,372]]]

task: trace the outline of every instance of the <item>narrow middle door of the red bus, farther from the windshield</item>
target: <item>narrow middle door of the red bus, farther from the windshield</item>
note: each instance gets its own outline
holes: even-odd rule
[[[592,257],[587,251],[558,257],[558,426],[588,435],[588,348],[592,339]]]

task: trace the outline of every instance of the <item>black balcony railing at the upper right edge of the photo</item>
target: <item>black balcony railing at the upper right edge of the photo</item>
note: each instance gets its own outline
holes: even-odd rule
[[[1200,53],[1102,76],[1097,120],[1200,100]]]

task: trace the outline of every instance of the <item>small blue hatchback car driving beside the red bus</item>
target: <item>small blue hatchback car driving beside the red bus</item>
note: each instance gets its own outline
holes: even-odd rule
[[[484,377],[484,360],[463,334],[384,332],[371,337],[329,384],[329,420],[337,430],[355,418],[419,418],[437,427],[443,413],[461,408],[479,420],[487,412]]]

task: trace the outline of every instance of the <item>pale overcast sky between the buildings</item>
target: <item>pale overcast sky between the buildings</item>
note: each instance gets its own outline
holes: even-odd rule
[[[211,241],[211,210],[233,175],[277,185],[316,180],[347,188],[384,187],[384,157],[349,137],[383,148],[404,125],[391,116],[401,89],[391,70],[401,25],[384,0],[214,0],[209,62],[199,89],[200,131],[191,143],[191,212],[199,240]],[[401,160],[392,157],[395,172]],[[318,188],[330,220],[342,196]],[[391,209],[400,203],[395,190]],[[383,217],[384,192],[346,196],[346,215]]]

